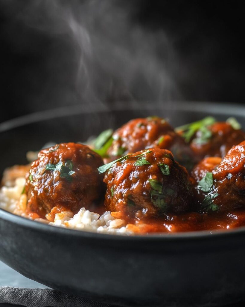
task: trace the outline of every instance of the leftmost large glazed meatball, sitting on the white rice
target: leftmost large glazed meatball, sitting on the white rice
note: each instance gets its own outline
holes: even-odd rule
[[[53,209],[52,219],[57,212],[77,213],[102,202],[101,165],[101,157],[85,145],[62,143],[41,150],[26,174],[27,212],[44,217]]]

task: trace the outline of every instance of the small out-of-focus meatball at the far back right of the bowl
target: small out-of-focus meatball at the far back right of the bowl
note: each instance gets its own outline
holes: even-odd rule
[[[245,133],[234,129],[228,122],[216,122],[196,132],[190,142],[194,154],[204,157],[224,157],[233,145],[245,139]]]

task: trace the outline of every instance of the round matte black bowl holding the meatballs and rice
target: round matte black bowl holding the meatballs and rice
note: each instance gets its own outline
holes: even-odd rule
[[[43,112],[0,124],[1,168],[25,163],[47,141],[85,140],[109,127],[149,115],[176,126],[235,116],[235,105],[171,103],[138,110],[88,112],[81,107]],[[0,209],[0,259],[51,288],[124,306],[209,306],[242,300],[245,227],[148,236],[75,231],[27,220]]]

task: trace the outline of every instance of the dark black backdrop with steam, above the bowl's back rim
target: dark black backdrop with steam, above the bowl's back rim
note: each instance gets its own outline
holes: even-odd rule
[[[242,2],[0,0],[0,121],[60,106],[244,102]]]

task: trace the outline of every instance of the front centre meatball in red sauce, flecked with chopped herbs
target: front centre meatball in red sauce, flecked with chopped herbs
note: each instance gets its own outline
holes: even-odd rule
[[[128,154],[106,172],[105,207],[124,219],[181,213],[191,208],[192,187],[184,167],[169,150],[151,148]]]

